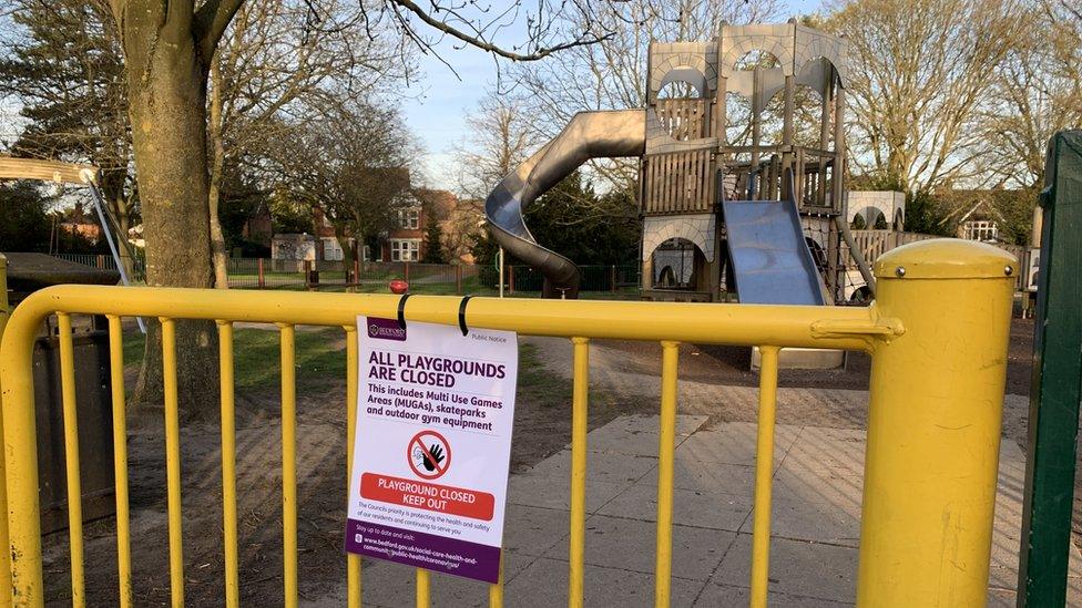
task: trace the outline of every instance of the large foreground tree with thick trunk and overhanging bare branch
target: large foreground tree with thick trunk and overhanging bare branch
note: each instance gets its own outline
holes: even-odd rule
[[[323,28],[324,7],[310,8],[312,30]],[[211,166],[207,154],[207,78],[229,23],[244,0],[110,0],[124,50],[129,87],[129,115],[146,238],[149,285],[211,287],[210,234]],[[469,4],[472,7],[472,3]],[[462,43],[511,60],[534,60],[558,50],[590,44],[592,30],[553,28],[564,4],[541,0],[528,16],[524,52],[492,42],[496,32],[518,18],[521,4],[497,19],[470,13],[457,2],[432,0],[422,8],[410,0],[363,3],[356,22],[377,35],[387,29],[415,48],[431,51],[432,37],[449,35]],[[523,9],[524,12],[524,9]],[[426,32],[433,32],[427,37]],[[177,327],[177,371],[182,399],[191,412],[213,411],[216,391],[214,352],[216,336],[211,323]],[[161,337],[155,329],[146,342],[143,373],[137,385],[141,401],[156,401],[161,387]],[[150,395],[150,396],[147,396]]]

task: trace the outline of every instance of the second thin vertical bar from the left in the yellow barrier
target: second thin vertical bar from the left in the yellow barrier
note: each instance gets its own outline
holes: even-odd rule
[[[120,605],[132,606],[132,532],[127,499],[127,412],[124,395],[124,330],[109,316],[109,379],[113,408],[113,478],[116,486],[116,574]]]

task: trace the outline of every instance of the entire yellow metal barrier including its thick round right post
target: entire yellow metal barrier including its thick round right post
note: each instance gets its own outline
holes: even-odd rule
[[[2,259],[2,258],[0,258]],[[864,350],[872,354],[858,602],[861,606],[971,606],[984,600],[1006,378],[1011,289],[1017,262],[1000,249],[953,240],[892,250],[876,267],[880,299],[869,308],[501,300],[474,298],[473,327],[570,338],[573,342],[571,530],[569,595],[582,606],[589,340],[651,340],[662,344],[659,496],[654,604],[670,604],[673,468],[680,342],[759,347],[763,352],[751,575],[752,606],[766,605],[769,570],[770,467],[778,351],[785,347]],[[2,272],[0,272],[2,278]],[[459,298],[415,296],[409,320],[457,323]],[[295,324],[341,327],[347,343],[347,402],[353,446],[358,392],[358,315],[397,316],[399,297],[353,293],[245,292],[163,288],[60,286],[28,298],[0,343],[10,553],[8,596],[17,606],[43,604],[38,465],[32,394],[32,344],[50,315],[61,320],[62,384],[69,447],[75,441],[70,316],[109,317],[113,373],[120,601],[131,605],[126,447],[121,373],[121,317],[157,317],[165,369],[170,579],[174,606],[184,602],[180,424],[175,319],[218,323],[222,382],[222,495],[225,604],[236,606],[236,437],[233,322],[276,323],[280,332],[284,604],[297,602]],[[0,317],[2,322],[2,317]],[[64,347],[64,344],[68,347]],[[67,352],[67,354],[64,354]],[[69,414],[71,414],[69,416]],[[72,600],[83,604],[78,451],[67,450],[71,501]],[[351,457],[349,458],[351,462]],[[3,496],[0,494],[0,499]],[[0,538],[3,540],[3,538]],[[2,545],[0,545],[2,546]],[[359,606],[360,559],[347,557],[347,599]],[[959,568],[963,564],[964,568]],[[0,564],[3,565],[3,564]],[[0,575],[7,575],[3,568]],[[4,584],[7,580],[0,579]],[[502,604],[501,583],[490,605]],[[430,580],[418,569],[416,602],[429,604]]]

